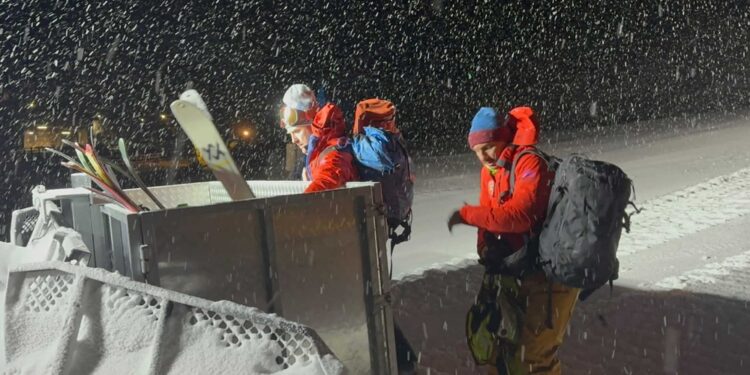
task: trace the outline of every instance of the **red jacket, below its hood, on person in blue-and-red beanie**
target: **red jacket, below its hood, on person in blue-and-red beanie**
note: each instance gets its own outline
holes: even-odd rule
[[[512,162],[516,153],[529,147],[506,148],[502,159]],[[515,175],[516,186],[510,195],[510,171],[500,167],[492,175],[483,167],[479,205],[461,208],[464,222],[479,229],[478,249],[484,247],[484,231],[488,231],[502,236],[517,250],[524,245],[524,235],[531,234],[534,227],[544,221],[554,173],[548,170],[542,158],[526,154],[518,161]]]

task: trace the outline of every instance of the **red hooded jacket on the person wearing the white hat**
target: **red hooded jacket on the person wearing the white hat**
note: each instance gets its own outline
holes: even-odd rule
[[[348,144],[341,109],[335,104],[326,104],[312,123],[305,168],[311,183],[305,193],[337,189],[349,181],[357,181],[354,156],[345,150]]]

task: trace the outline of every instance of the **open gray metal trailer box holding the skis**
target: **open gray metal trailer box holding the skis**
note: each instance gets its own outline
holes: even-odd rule
[[[89,266],[278,314],[315,329],[350,374],[396,374],[380,185],[303,195],[305,182],[248,183],[257,198],[236,202],[216,181],[151,188],[166,210],[126,190],[150,209],[139,213],[82,188],[34,199],[62,207]]]

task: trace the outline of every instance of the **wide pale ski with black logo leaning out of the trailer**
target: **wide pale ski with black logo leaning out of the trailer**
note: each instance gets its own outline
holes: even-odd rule
[[[195,90],[187,90],[169,106],[175,119],[198,149],[206,165],[221,181],[233,200],[255,198],[242,177],[205,103]]]

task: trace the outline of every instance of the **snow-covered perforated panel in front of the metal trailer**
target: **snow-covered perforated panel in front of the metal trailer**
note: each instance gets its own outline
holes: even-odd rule
[[[6,371],[75,374],[340,374],[307,327],[100,269],[50,262],[11,272]]]

